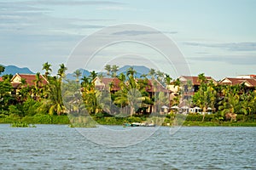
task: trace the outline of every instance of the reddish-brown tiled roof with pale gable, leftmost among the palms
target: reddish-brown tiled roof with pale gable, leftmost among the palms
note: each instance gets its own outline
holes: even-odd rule
[[[17,80],[19,80],[19,81],[16,82],[15,78],[17,78]],[[36,80],[36,75],[16,73],[15,76],[12,77],[12,79],[11,79],[11,83],[12,83],[13,87],[17,87],[21,83],[20,82],[21,79],[25,79],[28,86],[33,86],[33,85],[35,85],[34,80]],[[40,79],[41,79],[41,82],[39,82],[39,86],[48,84],[47,79],[41,74],[40,74]]]

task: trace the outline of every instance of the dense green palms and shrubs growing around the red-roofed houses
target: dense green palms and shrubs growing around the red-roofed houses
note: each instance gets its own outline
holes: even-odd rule
[[[153,84],[160,82],[163,86],[170,84],[177,87],[191,86],[191,82],[182,84],[178,79],[172,80],[169,75],[154,69],[151,69],[148,75],[136,77],[136,71],[132,67],[126,71],[126,74],[118,75],[119,66],[106,65],[107,77],[117,77],[120,89],[114,91],[114,84],[111,82],[109,89],[102,92],[96,90],[93,82],[96,77],[103,77],[102,74],[97,75],[96,71],[91,71],[89,77],[81,77],[82,73],[79,70],[75,71],[76,80],[71,81],[65,79],[67,67],[63,64],[60,65],[56,76],[51,75],[51,65],[48,62],[44,63],[43,70],[48,84],[42,86],[40,73],[37,73],[33,86],[28,86],[26,80],[21,80],[18,94],[15,94],[15,89],[10,83],[12,76],[3,76],[3,82],[0,82],[0,122],[63,124],[72,122],[79,127],[88,122],[88,118],[83,119],[81,116],[90,116],[99,124],[143,122],[148,117],[146,112],[148,105],[152,105],[154,113],[159,113],[161,105],[177,105],[184,93],[184,88],[179,88],[170,104],[165,93],[148,92],[148,79],[152,80]],[[0,73],[3,71],[4,67],[0,65]],[[204,74],[200,74],[199,78],[201,86],[187,102],[201,107],[203,113],[206,113],[208,107],[211,107],[215,113],[189,114],[186,116],[186,125],[196,125],[193,122],[201,121],[213,122],[214,125],[224,125],[227,121],[255,122],[255,90],[247,90],[244,84],[220,86],[207,82]],[[166,116],[163,124],[175,124],[174,115],[176,114],[171,113]],[[90,124],[91,127],[94,125]]]

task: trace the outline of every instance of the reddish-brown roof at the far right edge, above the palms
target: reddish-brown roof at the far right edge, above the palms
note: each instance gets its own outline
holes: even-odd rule
[[[254,78],[230,78],[230,77],[225,77],[219,83],[220,84],[225,84],[225,85],[239,85],[239,84],[242,84],[242,83],[246,83],[247,87],[256,87],[256,79],[254,79]]]

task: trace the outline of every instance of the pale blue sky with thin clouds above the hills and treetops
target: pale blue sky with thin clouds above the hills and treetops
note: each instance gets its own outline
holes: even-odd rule
[[[216,80],[256,74],[255,8],[255,0],[0,0],[0,64],[44,72],[48,61],[53,73],[61,63],[69,72],[145,65]]]

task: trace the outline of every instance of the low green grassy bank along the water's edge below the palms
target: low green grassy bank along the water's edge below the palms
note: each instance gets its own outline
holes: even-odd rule
[[[84,122],[83,119],[78,119],[80,122]],[[93,120],[93,121],[91,121]],[[85,120],[86,121],[86,120]],[[70,117],[63,116],[50,116],[37,114],[35,116],[16,116],[10,115],[6,117],[0,117],[0,123],[14,123],[14,122],[26,122],[30,124],[71,124]],[[75,122],[75,123],[80,123]],[[202,115],[167,115],[161,117],[145,117],[145,116],[131,116],[131,117],[115,117],[105,116],[102,114],[91,116],[87,122],[96,122],[101,125],[123,125],[124,123],[131,122],[154,122],[159,126],[199,126],[199,127],[256,127],[256,116],[244,116],[239,115],[236,117],[236,121],[230,122],[230,120],[224,120],[223,117],[212,114],[205,116],[204,122],[202,122]]]

